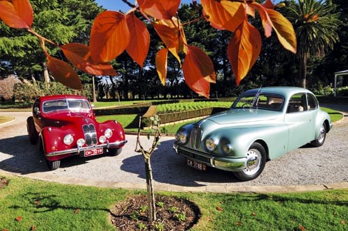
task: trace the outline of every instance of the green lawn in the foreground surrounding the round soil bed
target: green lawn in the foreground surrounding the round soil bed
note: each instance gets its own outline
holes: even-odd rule
[[[1,177],[9,184],[0,189],[0,230],[115,230],[109,209],[127,196],[145,193]],[[160,194],[187,198],[200,207],[202,216],[192,230],[347,230],[348,189]]]

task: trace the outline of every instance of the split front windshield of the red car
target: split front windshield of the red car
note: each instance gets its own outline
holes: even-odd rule
[[[86,99],[55,99],[44,102],[42,106],[45,113],[68,109],[70,111],[89,111],[90,104]]]

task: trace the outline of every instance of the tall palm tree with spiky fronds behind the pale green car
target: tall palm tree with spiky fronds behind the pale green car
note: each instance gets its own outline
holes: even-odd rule
[[[333,49],[340,21],[331,0],[290,1],[290,21],[296,31],[300,85],[306,88],[307,58]]]

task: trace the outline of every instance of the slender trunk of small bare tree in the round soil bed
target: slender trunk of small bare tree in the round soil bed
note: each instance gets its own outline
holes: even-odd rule
[[[146,175],[146,187],[148,189],[148,207],[149,207],[149,221],[152,223],[156,221],[156,207],[155,207],[155,193],[153,191],[152,184],[152,169],[150,164],[150,158],[145,158],[145,175]]]

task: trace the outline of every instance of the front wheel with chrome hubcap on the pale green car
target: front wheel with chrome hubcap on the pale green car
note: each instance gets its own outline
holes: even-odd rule
[[[246,153],[246,157],[246,168],[233,173],[242,181],[253,180],[262,173],[266,164],[266,150],[260,143],[253,143]]]

